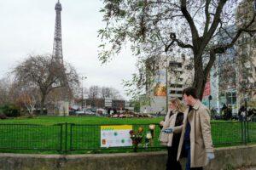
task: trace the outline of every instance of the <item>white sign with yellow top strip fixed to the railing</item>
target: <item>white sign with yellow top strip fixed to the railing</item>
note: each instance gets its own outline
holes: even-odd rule
[[[131,125],[101,126],[101,147],[132,146]]]

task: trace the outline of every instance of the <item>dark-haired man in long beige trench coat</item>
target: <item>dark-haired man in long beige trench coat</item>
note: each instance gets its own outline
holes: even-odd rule
[[[177,160],[179,160],[183,151],[184,156],[187,156],[186,170],[200,170],[214,158],[210,111],[205,105],[201,104],[195,88],[185,88],[183,99],[189,108],[184,113]]]

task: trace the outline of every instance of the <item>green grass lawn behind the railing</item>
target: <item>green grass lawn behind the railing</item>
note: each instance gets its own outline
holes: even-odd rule
[[[102,150],[100,126],[132,124],[134,130],[143,127],[145,134],[148,131],[148,124],[158,124],[161,120],[163,117],[115,119],[98,116],[38,116],[0,120],[0,151],[19,153],[58,153],[55,150],[72,150],[69,153],[131,152],[131,148]],[[248,133],[248,139],[256,142],[256,123],[249,123]],[[160,127],[156,126],[153,147],[148,150],[162,150],[158,141],[159,134]],[[212,122],[212,140],[215,146],[242,144],[241,122]],[[140,150],[145,150],[143,145],[144,141]],[[10,148],[13,150],[7,150]]]

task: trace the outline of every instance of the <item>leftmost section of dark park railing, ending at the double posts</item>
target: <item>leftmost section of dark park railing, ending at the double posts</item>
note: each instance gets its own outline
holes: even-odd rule
[[[0,124],[1,150],[61,150],[61,125]]]

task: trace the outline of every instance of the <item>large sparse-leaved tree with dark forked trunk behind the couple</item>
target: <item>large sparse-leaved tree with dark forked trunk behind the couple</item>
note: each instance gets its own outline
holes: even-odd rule
[[[253,8],[253,0],[247,0]],[[194,66],[193,86],[202,98],[207,76],[216,54],[232,48],[242,33],[253,36],[255,13],[236,29],[226,29],[236,23],[236,8],[241,0],[104,0],[103,20],[106,27],[99,58],[107,62],[118,54],[126,42],[139,59],[145,60],[173,52],[191,55]],[[225,31],[228,41],[216,42]],[[143,74],[147,69],[142,69]],[[142,72],[141,72],[142,73]],[[141,74],[140,73],[140,74]],[[145,77],[145,76],[144,76]],[[137,82],[145,82],[143,76]]]

